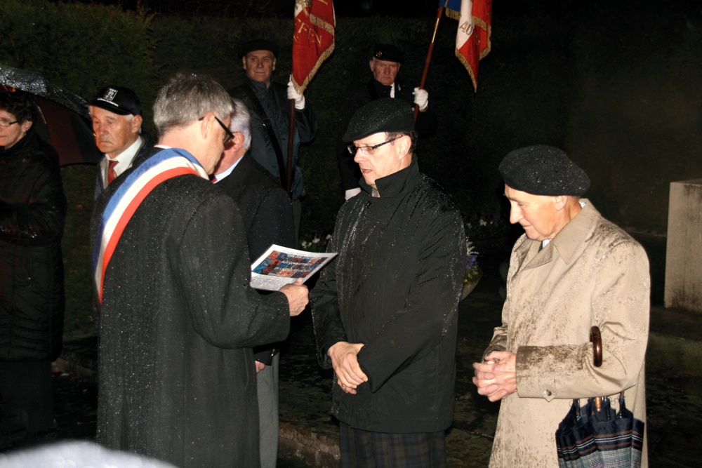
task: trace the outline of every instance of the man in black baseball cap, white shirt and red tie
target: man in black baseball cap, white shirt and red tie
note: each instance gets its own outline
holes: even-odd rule
[[[141,101],[129,88],[102,88],[88,105],[88,112],[93,119],[95,145],[105,154],[98,163],[97,199],[105,187],[131,168],[136,159],[154,146],[154,142],[148,133],[142,131]]]

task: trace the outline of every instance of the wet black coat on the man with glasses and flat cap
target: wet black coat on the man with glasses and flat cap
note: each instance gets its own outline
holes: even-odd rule
[[[465,234],[436,182],[409,168],[376,180],[339,211],[338,252],[310,293],[319,363],[339,341],[363,343],[357,394],[333,385],[332,413],[355,429],[437,432],[453,418]],[[335,379],[336,380],[336,379]]]

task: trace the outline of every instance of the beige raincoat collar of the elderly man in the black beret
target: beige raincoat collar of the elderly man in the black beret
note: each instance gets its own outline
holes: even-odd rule
[[[531,241],[527,239],[526,235],[523,236],[524,240],[522,243],[528,243],[527,258],[531,259],[526,268],[536,268],[545,265],[553,260],[554,255],[556,255],[555,252],[558,253],[566,265],[569,265],[576,253],[582,250],[583,244],[592,235],[593,229],[595,229],[600,213],[588,199],[581,199],[580,201],[585,203],[583,209],[541,251],[538,250],[541,242]]]

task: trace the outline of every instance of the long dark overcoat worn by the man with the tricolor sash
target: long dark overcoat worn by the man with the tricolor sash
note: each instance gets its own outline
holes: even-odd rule
[[[105,204],[134,170],[98,198],[93,244]],[[290,319],[285,295],[258,295],[249,272],[230,196],[195,175],[147,195],[105,272],[100,443],[180,467],[259,466],[251,347],[284,340]]]

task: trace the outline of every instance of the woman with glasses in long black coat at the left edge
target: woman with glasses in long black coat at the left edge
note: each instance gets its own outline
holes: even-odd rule
[[[0,90],[0,394],[51,433],[51,361],[61,351],[66,215],[58,155],[35,133],[31,95]],[[1,422],[0,422],[1,424]]]

